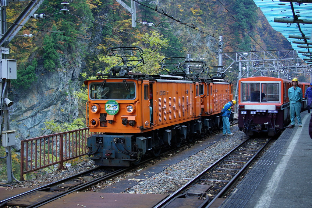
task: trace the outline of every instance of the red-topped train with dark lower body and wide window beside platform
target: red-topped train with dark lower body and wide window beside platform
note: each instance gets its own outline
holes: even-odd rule
[[[274,136],[290,122],[288,89],[290,80],[276,77],[248,77],[238,83],[238,127],[251,136],[266,132]],[[304,93],[304,83],[298,83]],[[302,104],[303,110],[304,105]]]

